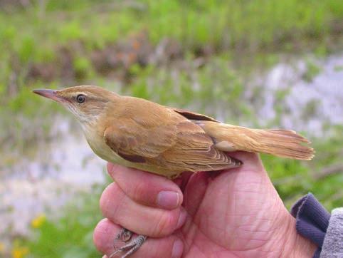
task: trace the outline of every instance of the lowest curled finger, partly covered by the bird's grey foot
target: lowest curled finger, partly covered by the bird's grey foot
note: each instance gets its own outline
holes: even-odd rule
[[[93,240],[95,247],[102,253],[110,256],[115,251],[114,239],[120,227],[115,225],[110,220],[101,220],[95,227]],[[153,239],[148,238],[137,252],[132,254],[134,257],[181,257],[184,244],[181,240],[170,235],[168,237]]]

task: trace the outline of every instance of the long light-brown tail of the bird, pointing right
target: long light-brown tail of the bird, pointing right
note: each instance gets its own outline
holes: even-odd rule
[[[293,130],[250,129],[212,121],[201,121],[199,125],[213,138],[219,150],[269,153],[297,160],[314,157],[314,150],[307,145],[310,141]]]

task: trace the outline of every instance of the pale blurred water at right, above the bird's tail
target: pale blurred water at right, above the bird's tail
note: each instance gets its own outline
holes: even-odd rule
[[[259,78],[258,82],[268,92],[265,94],[265,105],[260,110],[261,118],[275,118],[273,107],[277,103],[276,92],[288,88],[290,93],[285,97],[281,120],[284,128],[318,136],[322,133],[324,123],[343,124],[343,55],[314,62],[320,68],[320,73],[311,81],[302,79],[307,70],[304,60],[278,63],[265,77]],[[310,103],[313,108],[309,108]],[[307,114],[304,113],[306,110]]]

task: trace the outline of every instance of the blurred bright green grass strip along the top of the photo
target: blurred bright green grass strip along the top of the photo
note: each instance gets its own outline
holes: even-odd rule
[[[91,53],[139,33],[152,46],[172,38],[182,54],[197,55],[206,49],[294,51],[307,49],[312,41],[316,47],[327,46],[323,43],[337,35],[337,21],[343,19],[343,4],[334,0],[41,3],[0,13],[0,48],[6,49],[0,53],[0,92],[11,84],[16,92],[32,84],[28,72],[33,63],[63,66],[58,63],[62,48],[72,52],[70,62],[78,81],[87,78],[85,71],[94,66]],[[0,98],[2,103],[6,100]]]

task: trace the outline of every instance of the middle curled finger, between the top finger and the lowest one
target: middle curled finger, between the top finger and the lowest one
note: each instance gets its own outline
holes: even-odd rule
[[[150,237],[164,237],[181,227],[186,220],[183,207],[162,210],[134,202],[118,187],[109,185],[100,197],[100,208],[105,217],[132,232]]]

